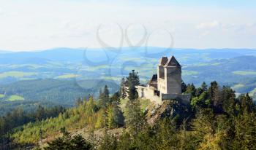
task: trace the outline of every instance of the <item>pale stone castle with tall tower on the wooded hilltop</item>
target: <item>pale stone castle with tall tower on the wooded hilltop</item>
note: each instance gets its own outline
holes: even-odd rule
[[[162,57],[146,86],[138,86],[139,98],[146,98],[162,104],[162,100],[181,100],[189,103],[190,95],[181,93],[181,65],[174,56]]]

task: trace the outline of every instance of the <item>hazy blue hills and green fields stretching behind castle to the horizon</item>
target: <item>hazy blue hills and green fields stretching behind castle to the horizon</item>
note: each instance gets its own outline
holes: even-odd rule
[[[67,87],[78,95],[83,91],[74,87],[73,83],[67,82],[70,80],[103,79],[118,84],[123,76],[127,76],[129,71],[135,68],[140,69],[140,81],[146,83],[151,77],[150,74],[156,73],[158,60],[163,55],[175,55],[183,66],[182,78],[187,83],[194,83],[198,87],[202,81],[209,84],[217,80],[221,85],[233,87],[238,93],[250,92],[250,95],[256,98],[256,51],[247,49],[166,50],[161,47],[124,47],[122,50],[57,48],[39,52],[3,52],[0,55],[0,87],[19,88],[20,86],[20,91],[23,92],[23,84],[26,83],[18,81],[60,79],[65,85],[51,83],[61,86],[59,89],[54,88],[56,95],[51,92],[46,94],[45,91],[45,93],[40,92],[43,96],[40,93],[36,95],[36,99],[66,101],[67,98],[73,98],[72,94],[67,91],[61,96],[58,94],[59,90]],[[10,84],[13,82],[18,83]],[[45,83],[37,81],[34,82],[37,85],[32,87],[36,86],[38,89],[42,84],[42,89],[45,86],[53,89],[49,82],[51,81]],[[78,83],[80,87],[86,88],[83,86],[85,84],[81,84]],[[21,93],[21,95],[29,95],[29,93]]]

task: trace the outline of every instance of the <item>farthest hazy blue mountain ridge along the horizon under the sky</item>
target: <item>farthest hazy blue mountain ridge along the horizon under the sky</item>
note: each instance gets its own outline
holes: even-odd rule
[[[78,62],[84,59],[84,55],[94,59],[100,58],[100,56],[105,57],[105,52],[108,55],[127,55],[134,56],[140,55],[146,58],[160,58],[162,55],[187,55],[187,54],[205,54],[211,59],[222,59],[222,58],[234,58],[241,55],[256,55],[256,50],[249,49],[165,49],[161,47],[123,47],[118,50],[116,48],[88,48],[88,49],[74,49],[74,48],[56,48],[50,50],[41,50],[35,52],[1,52],[0,63],[23,63],[29,58],[42,58],[46,60],[53,61],[69,61]],[[108,56],[110,57],[110,56]]]

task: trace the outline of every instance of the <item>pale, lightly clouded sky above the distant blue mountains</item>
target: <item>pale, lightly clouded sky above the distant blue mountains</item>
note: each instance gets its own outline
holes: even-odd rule
[[[255,0],[0,0],[0,50],[256,48]]]

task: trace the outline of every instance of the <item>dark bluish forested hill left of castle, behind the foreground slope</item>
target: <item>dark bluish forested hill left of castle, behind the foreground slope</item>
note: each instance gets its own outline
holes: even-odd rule
[[[110,93],[118,90],[118,85],[105,80],[59,80],[36,79],[0,85],[0,113],[1,115],[21,107],[31,111],[37,106],[65,106],[75,105],[78,98],[88,98],[99,95],[99,88],[108,85]],[[0,116],[1,116],[0,115]]]

